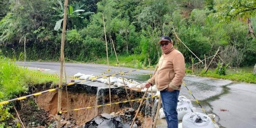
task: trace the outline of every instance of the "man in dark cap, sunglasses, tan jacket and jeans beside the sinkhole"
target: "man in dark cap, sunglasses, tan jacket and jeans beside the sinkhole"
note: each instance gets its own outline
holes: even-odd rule
[[[184,56],[173,47],[173,41],[168,36],[161,37],[162,56],[158,61],[155,75],[149,79],[146,88],[156,85],[162,98],[163,112],[166,116],[167,128],[178,128],[177,102],[182,79],[185,76]]]

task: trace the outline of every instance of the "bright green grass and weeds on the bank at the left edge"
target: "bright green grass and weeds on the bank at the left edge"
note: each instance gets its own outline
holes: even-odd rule
[[[48,75],[39,71],[31,71],[25,67],[19,67],[15,60],[4,57],[0,50],[0,102],[19,97],[20,93],[26,93],[29,86],[45,82],[58,82],[56,78],[38,78],[33,75]],[[0,105],[0,127],[5,127],[5,121],[13,116],[8,112],[10,105]]]

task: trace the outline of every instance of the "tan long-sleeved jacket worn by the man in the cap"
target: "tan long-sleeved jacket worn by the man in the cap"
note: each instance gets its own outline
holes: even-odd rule
[[[153,85],[155,84],[159,91],[167,89],[168,87],[174,90],[180,90],[184,76],[184,56],[172,47],[170,53],[163,54],[160,57],[157,72],[148,82]]]

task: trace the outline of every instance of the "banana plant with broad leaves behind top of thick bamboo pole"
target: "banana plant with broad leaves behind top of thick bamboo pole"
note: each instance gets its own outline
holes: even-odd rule
[[[63,3],[61,3],[61,1],[60,0],[58,0],[58,2],[59,2],[59,4],[60,4],[60,7],[61,7],[61,10],[62,10],[62,12],[60,11],[60,10],[58,10],[57,8],[53,8],[54,10],[56,10],[57,12],[59,12],[60,14],[59,14],[59,16],[60,17],[63,17],[63,15],[64,15],[64,7],[63,7]],[[74,7],[73,7],[74,6]],[[76,20],[81,20],[81,19],[83,19],[85,16],[87,16],[87,15],[90,15],[90,14],[94,14],[94,12],[84,12],[85,10],[82,10],[81,8],[84,6],[84,4],[82,4],[82,5],[79,5],[79,3],[75,3],[75,5],[70,5],[69,7],[68,7],[68,10],[67,10],[67,19],[69,20],[69,21],[71,21],[71,24],[72,25],[74,25],[75,24],[75,22],[76,22]],[[75,11],[74,11],[75,10]],[[83,12],[83,13],[81,13],[81,12]],[[62,19],[60,19],[60,20],[58,20],[57,22],[56,22],[56,24],[55,24],[55,27],[54,27],[54,30],[59,30],[60,29],[60,27],[61,27],[61,23],[63,22],[63,18]]]

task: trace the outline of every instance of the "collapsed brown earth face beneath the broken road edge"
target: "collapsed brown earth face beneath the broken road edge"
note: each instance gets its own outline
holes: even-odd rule
[[[44,89],[49,89],[49,87],[34,87],[34,92],[44,91]],[[102,106],[91,109],[80,109],[91,107],[95,105],[107,104],[109,102],[109,89],[100,89],[97,91],[97,87],[90,87],[86,84],[77,84],[75,86],[68,87],[68,92],[66,92],[65,87],[61,93],[61,110],[70,110],[66,113],[62,113],[62,118],[64,120],[74,119],[75,123],[79,126],[84,125],[87,121],[90,121],[92,118],[98,116],[101,113],[112,113],[122,111],[122,109],[131,107],[130,103],[119,103],[115,105]],[[35,91],[36,90],[36,91]],[[98,94],[97,94],[98,93]],[[137,92],[134,90],[128,90],[130,99],[142,98],[143,93]],[[37,104],[39,108],[44,109],[46,112],[49,112],[51,117],[56,116],[57,114],[57,99],[58,91],[52,91],[49,93],[44,93],[35,97],[37,99]],[[128,97],[125,93],[124,88],[114,88],[111,89],[111,99],[112,103],[127,101]],[[149,99],[150,100],[150,99]],[[135,101],[132,103],[132,108],[137,109],[140,101]],[[146,107],[146,102],[143,102],[142,112],[150,113],[151,106]],[[74,110],[80,109],[80,110]],[[147,110],[146,110],[147,109]],[[143,115],[141,113],[140,115]],[[50,117],[50,116],[49,116]],[[146,119],[146,118],[145,118]],[[148,118],[146,119],[148,120]],[[144,124],[144,121],[142,121]]]

